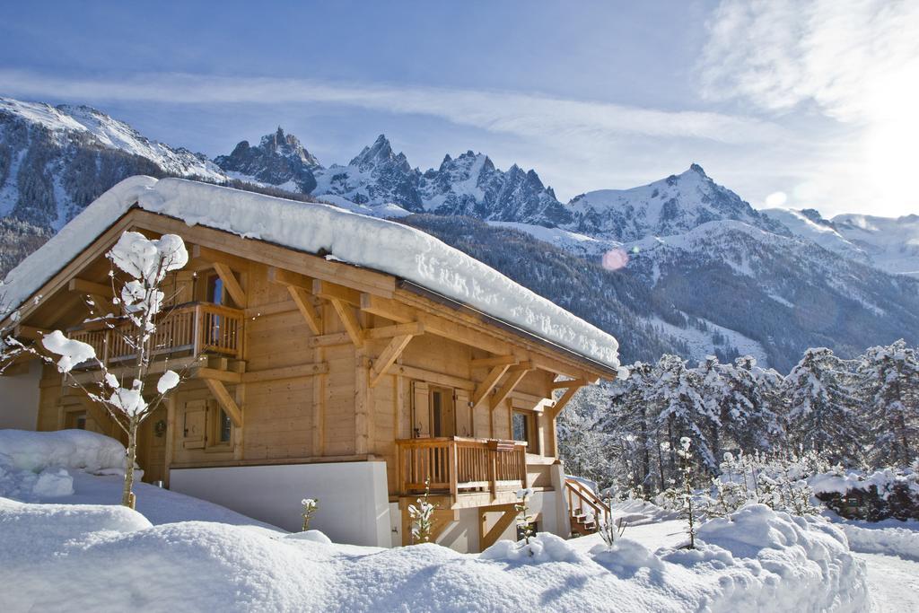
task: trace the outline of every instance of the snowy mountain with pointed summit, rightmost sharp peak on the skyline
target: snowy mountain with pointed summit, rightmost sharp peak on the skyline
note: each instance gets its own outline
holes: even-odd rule
[[[569,230],[614,241],[670,236],[717,220],[743,221],[769,232],[787,233],[730,189],[712,181],[697,164],[646,186],[582,194],[569,207],[574,218]]]

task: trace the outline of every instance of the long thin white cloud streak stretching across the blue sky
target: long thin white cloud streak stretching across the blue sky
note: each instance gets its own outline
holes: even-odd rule
[[[663,111],[514,92],[419,86],[348,85],[274,77],[141,74],[129,79],[68,79],[0,71],[15,96],[85,102],[142,100],[179,104],[331,103],[419,114],[528,138],[597,142],[622,134],[711,142],[772,142],[788,133],[762,119],[698,111]]]

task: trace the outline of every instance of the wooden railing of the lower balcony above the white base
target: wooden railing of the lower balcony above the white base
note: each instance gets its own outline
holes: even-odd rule
[[[527,486],[527,444],[490,438],[436,437],[396,441],[399,491],[456,496]]]

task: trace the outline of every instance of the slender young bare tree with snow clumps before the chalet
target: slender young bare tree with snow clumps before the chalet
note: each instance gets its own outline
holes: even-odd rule
[[[188,254],[182,238],[164,234],[159,239],[148,239],[141,233],[122,233],[119,241],[108,252],[112,262],[109,272],[115,303],[120,316],[104,318],[108,328],[117,331],[122,341],[134,351],[133,364],[122,369],[109,369],[96,356],[93,346],[67,338],[55,330],[41,339],[41,345],[55,361],[34,347],[28,350],[43,360],[55,364],[57,369],[84,389],[96,403],[103,405],[113,421],[128,435],[127,461],[121,504],[134,507],[134,464],[137,458],[137,430],[144,419],[155,411],[181,380],[174,370],[165,369],[155,385],[155,393],[145,390],[153,358],[153,337],[156,320],[163,307],[165,294],[160,289],[167,273],[185,267]],[[116,270],[124,274],[121,278]],[[99,378],[86,385],[73,376],[77,365],[95,362]]]

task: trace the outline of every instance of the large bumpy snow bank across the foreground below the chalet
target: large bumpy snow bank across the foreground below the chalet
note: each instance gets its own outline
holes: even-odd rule
[[[309,532],[212,522],[151,526],[118,506],[0,500],[0,585],[16,586],[0,590],[0,610],[868,608],[864,568],[838,531],[766,507],[745,513],[733,528],[708,528],[713,543],[698,551],[652,553],[621,539],[612,551],[587,554],[539,534],[528,547],[499,543],[476,556],[433,544],[335,545]],[[737,541],[751,528],[754,536]]]

